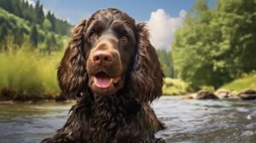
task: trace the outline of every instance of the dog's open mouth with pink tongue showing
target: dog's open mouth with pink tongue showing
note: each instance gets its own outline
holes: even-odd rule
[[[92,76],[92,82],[100,89],[108,89],[114,84],[119,83],[120,79],[121,77],[109,77],[105,72],[99,72],[96,76]]]

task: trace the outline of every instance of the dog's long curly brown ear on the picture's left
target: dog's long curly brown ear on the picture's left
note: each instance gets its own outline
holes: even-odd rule
[[[86,90],[87,73],[84,59],[84,31],[86,20],[73,27],[72,37],[61,60],[57,76],[61,94],[76,100]]]

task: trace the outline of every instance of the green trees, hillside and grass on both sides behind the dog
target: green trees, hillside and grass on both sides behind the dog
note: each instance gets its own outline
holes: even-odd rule
[[[170,51],[157,49],[165,72],[164,94],[199,89],[239,89],[229,83],[255,78],[256,2],[196,0]],[[72,25],[45,12],[38,1],[0,0],[0,100],[55,99],[56,67]],[[246,86],[242,86],[245,87]],[[256,85],[247,85],[252,89]]]

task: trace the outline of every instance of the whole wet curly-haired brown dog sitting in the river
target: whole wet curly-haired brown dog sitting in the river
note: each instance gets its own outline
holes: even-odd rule
[[[99,10],[75,26],[58,80],[77,103],[64,127],[42,142],[164,142],[154,137],[165,127],[149,105],[160,97],[164,75],[148,38],[145,24],[119,9]]]

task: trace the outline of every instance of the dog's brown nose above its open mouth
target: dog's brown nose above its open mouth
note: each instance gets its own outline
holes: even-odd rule
[[[98,50],[93,54],[92,59],[98,66],[109,66],[113,61],[113,55],[108,50]]]

